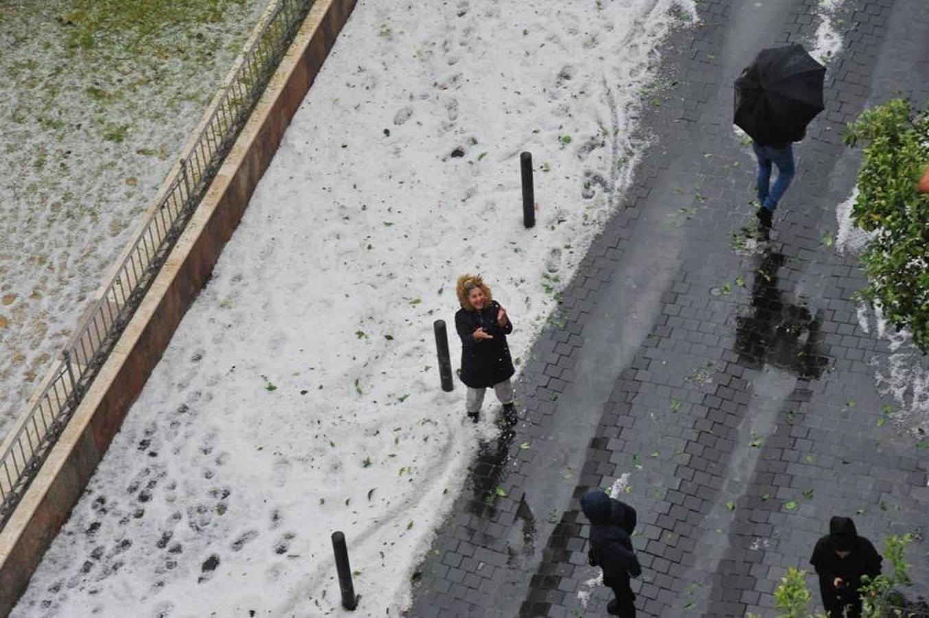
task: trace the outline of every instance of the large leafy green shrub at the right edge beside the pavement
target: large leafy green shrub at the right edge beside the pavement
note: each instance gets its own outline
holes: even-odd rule
[[[929,110],[891,99],[848,126],[845,143],[864,144],[852,220],[874,236],[862,256],[869,285],[862,295],[897,330],[929,351],[929,196],[916,191],[929,163]]]

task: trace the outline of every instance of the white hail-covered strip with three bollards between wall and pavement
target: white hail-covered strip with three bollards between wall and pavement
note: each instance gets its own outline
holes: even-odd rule
[[[355,615],[397,615],[497,407],[463,422],[432,322],[479,272],[525,358],[629,183],[661,39],[695,18],[689,0],[361,0],[14,615],[340,613],[335,530]]]

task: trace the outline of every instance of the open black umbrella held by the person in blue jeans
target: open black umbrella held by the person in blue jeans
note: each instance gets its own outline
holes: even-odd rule
[[[734,122],[762,146],[803,139],[824,108],[825,75],[801,45],[762,49],[736,80]]]

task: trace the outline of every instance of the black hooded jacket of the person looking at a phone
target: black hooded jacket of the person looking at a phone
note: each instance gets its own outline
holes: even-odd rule
[[[851,550],[847,558],[839,558],[836,550]],[[883,558],[863,536],[858,536],[855,522],[851,518],[835,516],[829,521],[829,534],[817,541],[813,549],[810,564],[816,567],[819,575],[819,585],[826,594],[840,592],[833,585],[836,577],[841,577],[846,585],[841,589],[842,594],[857,594],[861,587],[861,576],[877,577],[881,574]]]

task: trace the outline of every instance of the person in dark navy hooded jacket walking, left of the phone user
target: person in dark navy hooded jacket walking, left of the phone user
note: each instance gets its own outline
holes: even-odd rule
[[[635,558],[630,535],[635,529],[635,508],[610,498],[602,489],[593,489],[581,496],[581,509],[590,520],[591,566],[603,570],[603,583],[616,596],[607,606],[611,615],[635,618],[635,595],[629,586],[630,577],[642,574]]]

